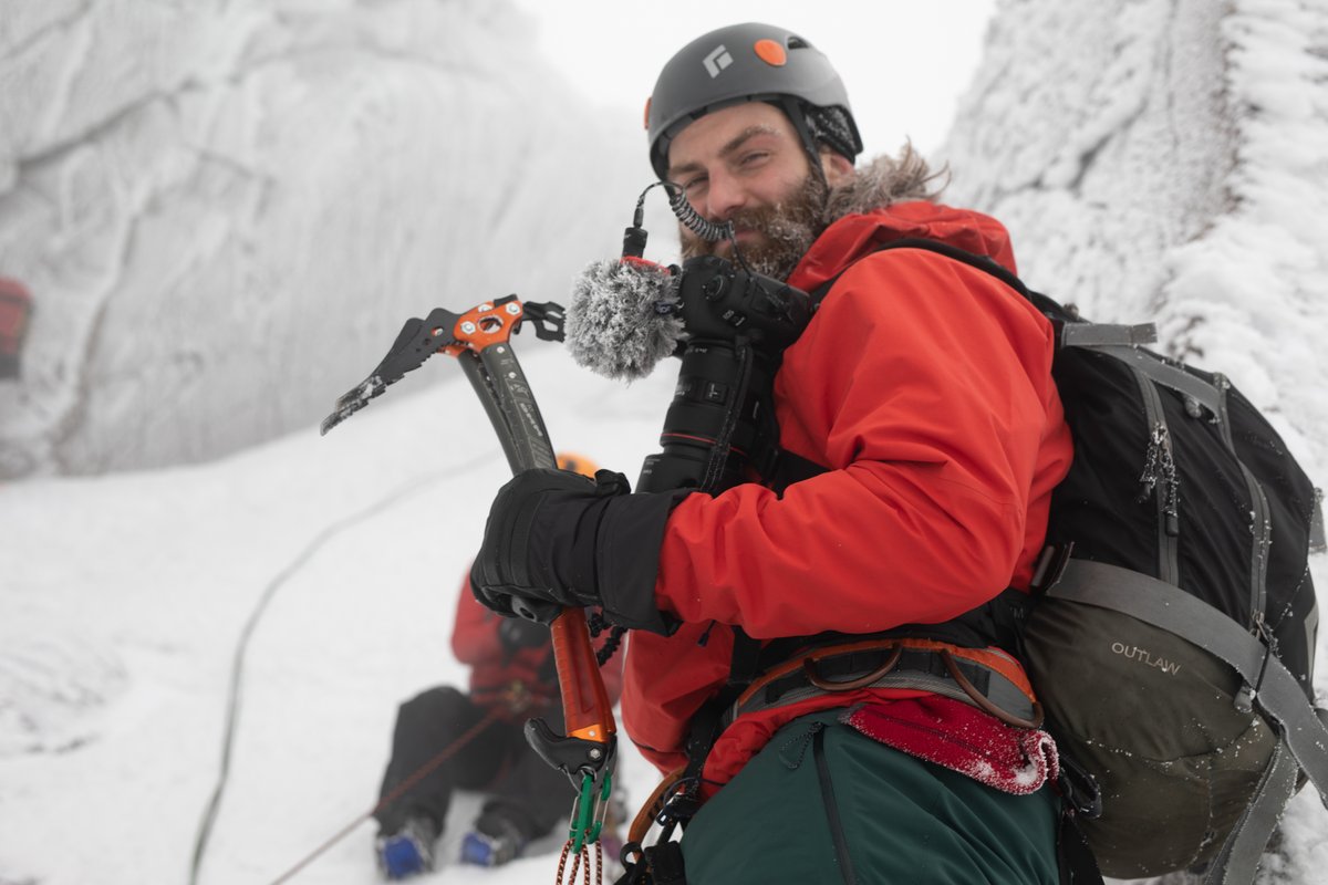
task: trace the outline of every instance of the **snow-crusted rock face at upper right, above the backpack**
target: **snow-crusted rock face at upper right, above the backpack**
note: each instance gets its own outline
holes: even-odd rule
[[[1031,285],[1157,320],[1328,479],[1328,4],[1003,0],[946,146],[947,199],[1011,227]]]

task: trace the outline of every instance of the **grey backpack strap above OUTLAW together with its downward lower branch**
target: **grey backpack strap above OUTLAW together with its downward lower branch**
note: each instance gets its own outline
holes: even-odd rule
[[[1278,730],[1259,789],[1214,860],[1206,885],[1251,882],[1263,848],[1304,771],[1328,805],[1328,710],[1311,706],[1291,670],[1258,637],[1171,584],[1130,569],[1070,559],[1050,598],[1112,609],[1169,630],[1226,661]]]

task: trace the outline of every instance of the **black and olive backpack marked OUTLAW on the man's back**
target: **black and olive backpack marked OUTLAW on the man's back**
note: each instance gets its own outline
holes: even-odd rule
[[[1307,565],[1324,545],[1319,490],[1224,377],[1143,349],[1151,325],[1088,322],[934,240],[880,248],[991,273],[1056,326],[1074,460],[1020,651],[1062,755],[1100,788],[1078,823],[1102,873],[1252,881],[1301,772],[1328,804]]]

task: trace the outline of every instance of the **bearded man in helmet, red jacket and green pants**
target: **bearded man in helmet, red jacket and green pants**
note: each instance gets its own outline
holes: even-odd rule
[[[1070,462],[1053,330],[931,248],[1013,272],[1004,227],[938,203],[911,149],[855,169],[843,84],[782,28],[687,45],[647,125],[656,174],[733,223],[687,255],[819,299],[769,391],[799,467],[716,494],[522,474],[475,594],[633,630],[624,726],[681,774],[656,882],[1057,882],[1056,750],[993,602],[1028,592]]]

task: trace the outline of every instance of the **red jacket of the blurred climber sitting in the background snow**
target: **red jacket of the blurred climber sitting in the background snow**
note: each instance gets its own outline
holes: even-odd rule
[[[498,640],[502,616],[486,609],[470,592],[469,580],[457,593],[457,617],[452,628],[452,651],[470,665],[470,695],[477,702],[509,702],[513,691],[529,691],[540,702],[558,699],[558,674],[554,671],[554,646],[507,651]],[[595,647],[607,638],[604,633]],[[618,703],[623,693],[623,651],[619,649],[600,667],[608,699]]]

